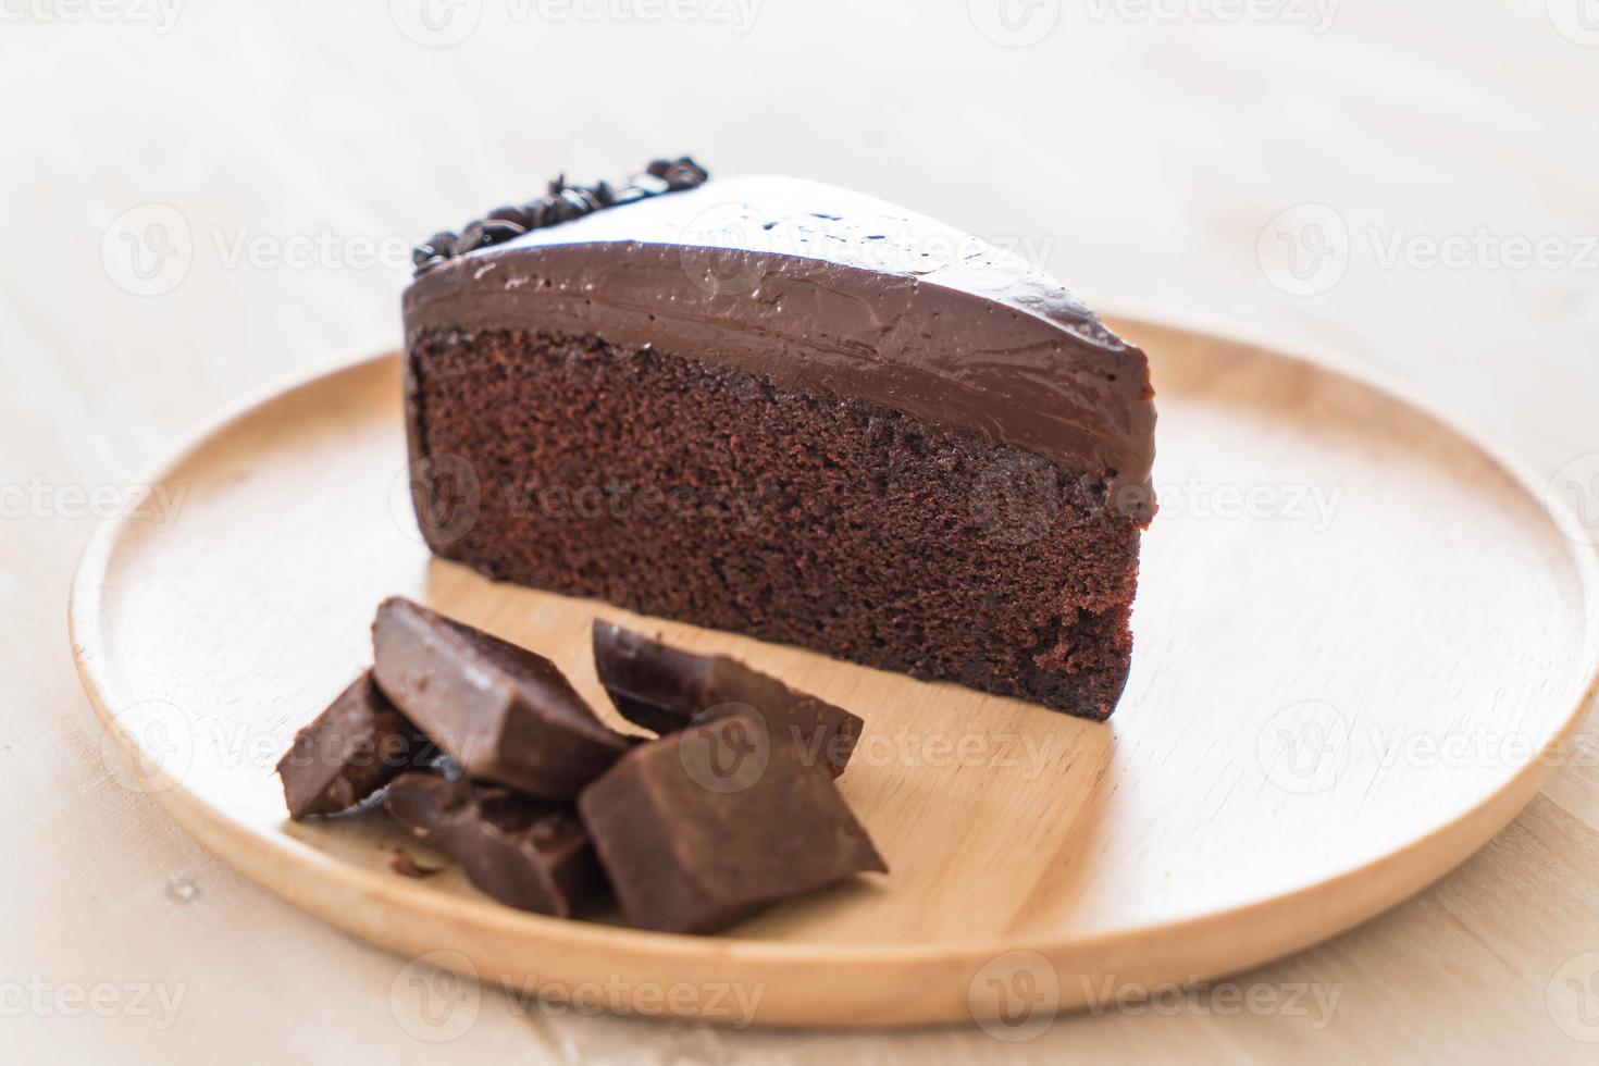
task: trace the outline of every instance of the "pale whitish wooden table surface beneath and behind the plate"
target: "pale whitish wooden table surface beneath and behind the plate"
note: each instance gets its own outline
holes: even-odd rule
[[[692,150],[857,185],[1105,307],[1377,364],[1551,475],[1599,452],[1591,0],[1319,8],[1330,26],[1308,3],[964,8],[0,10],[8,1060],[1593,1061],[1599,743],[1430,892],[1234,978],[1242,1007],[1212,989],[1025,1044],[708,1031],[491,991],[429,1044],[395,1008],[403,959],[235,876],[102,761],[64,638],[94,516],[219,408],[392,345],[409,238],[561,168]]]

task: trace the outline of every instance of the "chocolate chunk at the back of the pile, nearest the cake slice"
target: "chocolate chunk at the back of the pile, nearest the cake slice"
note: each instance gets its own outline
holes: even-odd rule
[[[756,713],[768,732],[793,740],[807,762],[838,777],[865,724],[849,711],[726,655],[694,655],[595,619],[595,668],[622,718],[657,734],[696,716]]]

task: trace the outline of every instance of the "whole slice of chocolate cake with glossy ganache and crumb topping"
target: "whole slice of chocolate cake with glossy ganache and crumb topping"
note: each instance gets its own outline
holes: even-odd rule
[[[1108,716],[1154,511],[1143,353],[1015,256],[879,200],[652,173],[419,253],[432,548]]]

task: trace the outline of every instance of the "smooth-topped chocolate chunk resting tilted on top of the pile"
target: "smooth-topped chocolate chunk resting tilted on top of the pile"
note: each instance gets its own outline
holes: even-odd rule
[[[571,799],[632,743],[548,658],[409,599],[384,601],[373,644],[379,687],[467,777]]]

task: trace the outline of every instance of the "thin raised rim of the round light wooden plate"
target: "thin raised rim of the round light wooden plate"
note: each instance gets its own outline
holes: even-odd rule
[[[1517,487],[1530,494],[1540,505],[1546,505],[1549,508],[1565,508],[1569,516],[1575,519],[1575,511],[1569,505],[1545,497],[1543,489],[1546,486],[1540,484],[1540,478],[1535,476],[1525,463],[1497,447],[1490,436],[1476,432],[1455,412],[1439,409],[1425,398],[1414,395],[1414,388],[1399,379],[1372,372],[1370,368],[1353,364],[1343,356],[1330,352],[1313,350],[1306,345],[1284,348],[1279,342],[1255,336],[1255,331],[1241,329],[1233,323],[1217,323],[1215,320],[1204,316],[1170,313],[1169,310],[1153,312],[1148,308],[1132,308],[1132,313],[1107,315],[1107,318],[1126,324],[1127,332],[1130,334],[1135,334],[1140,326],[1148,326],[1154,329],[1209,336],[1233,345],[1268,352],[1274,356],[1303,363],[1366,385],[1367,388],[1383,393],[1445,427],[1455,436],[1469,443],[1473,447],[1492,459],[1506,475],[1509,475]],[[262,404],[286,398],[297,392],[315,388],[328,379],[360,371],[369,364],[379,364],[393,358],[397,358],[393,352],[384,352],[381,355],[369,355],[369,348],[347,352],[312,371],[291,376],[286,380],[249,395],[189,436],[181,447],[155,467],[155,473],[147,476],[142,484],[152,487],[161,484],[173,470],[189,460],[198,449],[205,447],[208,441],[230,430],[237,422],[249,416]],[[115,682],[112,678],[106,676],[93,654],[93,649],[101,646],[99,631],[102,582],[109,572],[112,553],[126,524],[126,518],[109,519],[96,529],[78,563],[69,601],[69,633],[78,676],[98,719],[102,727],[112,734],[114,743],[118,746],[133,745],[120,734],[120,730],[110,729],[115,722],[115,714],[110,711],[110,694],[115,690]],[[1425,834],[1415,836],[1404,847],[1394,849],[1374,861],[1350,868],[1332,877],[1313,881],[1290,892],[1279,890],[1268,897],[1262,897],[1260,900],[1228,908],[1225,911],[1207,911],[1153,925],[1132,924],[1103,930],[1089,937],[1049,938],[1031,935],[1014,938],[921,941],[915,945],[803,945],[782,940],[684,937],[592,922],[561,921],[513,911],[486,900],[464,900],[454,895],[430,890],[424,885],[395,884],[398,881],[395,877],[342,863],[309,844],[285,834],[262,833],[256,828],[246,829],[248,837],[257,847],[264,845],[265,850],[246,860],[241,852],[235,852],[235,847],[238,847],[235,844],[240,828],[238,823],[229,820],[217,810],[213,810],[205,801],[189,793],[177,782],[163,782],[160,788],[152,788],[150,791],[161,807],[174,817],[174,820],[193,833],[224,860],[262,881],[278,895],[289,898],[299,906],[307,906],[309,909],[317,911],[321,917],[334,924],[355,927],[352,922],[345,921],[345,916],[329,913],[328,908],[309,905],[301,895],[291,895],[286,890],[285,881],[275,879],[262,860],[277,855],[278,861],[286,863],[285,869],[309,868],[321,876],[333,877],[342,889],[357,895],[369,895],[374,898],[385,897],[390,900],[398,897],[408,908],[416,908],[417,911],[430,913],[440,917],[456,921],[465,919],[472,924],[489,927],[532,927],[537,929],[537,935],[540,938],[550,941],[552,945],[577,949],[624,949],[635,956],[657,959],[683,959],[686,954],[691,954],[705,959],[768,961],[777,964],[825,962],[828,965],[846,967],[873,965],[884,961],[939,961],[975,967],[1007,951],[1060,954],[1065,951],[1079,951],[1116,941],[1132,941],[1143,937],[1164,938],[1198,933],[1220,921],[1247,919],[1257,913],[1303,906],[1311,898],[1329,898],[1329,893],[1335,893],[1343,884],[1370,879],[1374,869],[1399,869],[1402,873],[1402,876],[1394,884],[1388,885],[1385,892],[1367,895],[1361,906],[1340,914],[1334,921],[1329,921],[1327,927],[1321,929],[1313,940],[1289,945],[1258,959],[1252,959],[1249,965],[1255,965],[1270,957],[1276,957],[1284,951],[1297,951],[1310,943],[1342,932],[1343,929],[1364,921],[1366,917],[1370,917],[1372,914],[1377,914],[1382,909],[1386,909],[1388,906],[1393,906],[1394,903],[1399,903],[1401,900],[1422,890],[1468,858],[1477,847],[1485,844],[1487,839],[1508,825],[1521,807],[1532,799],[1537,788],[1545,782],[1553,769],[1551,761],[1546,758],[1548,753],[1570,738],[1572,732],[1581,721],[1583,713],[1596,695],[1599,695],[1599,551],[1572,540],[1570,555],[1581,575],[1583,607],[1588,626],[1585,662],[1580,665],[1583,697],[1567,713],[1559,732],[1549,737],[1540,748],[1538,754],[1514,777],[1506,780],[1498,791],[1487,794],[1474,807],[1458,813],[1449,821],[1434,826]],[[131,751],[125,750],[123,754],[131,754]],[[1433,845],[1444,842],[1455,844],[1455,847],[1442,849],[1425,861],[1418,858],[1433,849]]]

